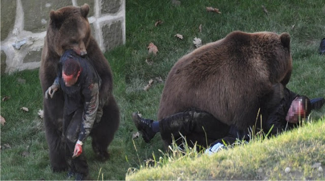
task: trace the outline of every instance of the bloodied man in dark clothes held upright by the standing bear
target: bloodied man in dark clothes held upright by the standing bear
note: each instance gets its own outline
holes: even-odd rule
[[[99,103],[101,78],[86,58],[67,50],[60,58],[58,76],[45,93],[45,98],[61,88],[64,94],[62,139],[69,166],[68,177],[87,179],[89,169],[82,145],[96,122],[101,120],[103,106]],[[73,154],[73,155],[72,155]]]

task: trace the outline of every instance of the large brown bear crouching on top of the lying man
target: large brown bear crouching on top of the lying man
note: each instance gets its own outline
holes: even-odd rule
[[[158,119],[197,108],[246,129],[272,99],[272,86],[287,84],[292,67],[289,34],[232,32],[178,60],[167,77]]]

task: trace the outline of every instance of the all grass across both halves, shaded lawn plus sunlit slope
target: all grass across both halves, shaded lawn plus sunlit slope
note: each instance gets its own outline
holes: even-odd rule
[[[262,5],[269,14],[264,13]],[[222,14],[206,12],[219,8]],[[294,70],[288,88],[310,98],[325,96],[325,58],[317,53],[324,37],[325,5],[314,1],[126,1],[126,45],[105,53],[114,73],[114,96],[121,110],[120,127],[109,147],[111,158],[98,162],[85,143],[90,176],[93,179],[325,179],[324,173],[311,168],[325,160],[325,107],[311,113],[312,122],[304,127],[265,141],[224,150],[212,157],[188,148],[181,154],[176,147],[166,153],[157,134],[149,144],[142,138],[132,139],[137,129],[132,112],[156,119],[158,104],[168,72],[177,59],[194,50],[192,41],[203,44],[219,40],[232,31],[288,32]],[[157,20],[163,24],[154,26]],[[202,24],[202,32],[199,26]],[[181,34],[179,40],[174,35]],[[147,46],[158,47],[157,56],[148,56]],[[152,66],[145,63],[153,62]],[[38,70],[1,76],[2,180],[64,180],[66,173],[52,173],[42,119],[42,91]],[[25,83],[19,83],[24,79]],[[153,79],[152,87],[143,87]],[[28,112],[21,110],[27,107]],[[10,147],[8,147],[10,146]],[[284,168],[290,167],[289,174]],[[127,170],[129,170],[127,172]],[[135,170],[134,172],[132,170]]]

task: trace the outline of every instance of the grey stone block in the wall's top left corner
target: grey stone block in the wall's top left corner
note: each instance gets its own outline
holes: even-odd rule
[[[5,40],[14,28],[16,0],[1,0],[1,41]]]

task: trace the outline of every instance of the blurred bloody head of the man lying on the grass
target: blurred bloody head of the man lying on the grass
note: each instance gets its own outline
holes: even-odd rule
[[[311,111],[310,100],[306,96],[297,97],[286,114],[285,119],[289,123],[298,123],[299,120],[306,118]]]

